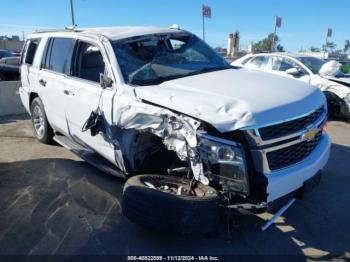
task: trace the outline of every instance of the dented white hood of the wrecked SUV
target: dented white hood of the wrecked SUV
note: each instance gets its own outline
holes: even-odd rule
[[[283,121],[325,103],[316,87],[247,69],[139,86],[135,92],[140,99],[205,121],[221,132]]]

